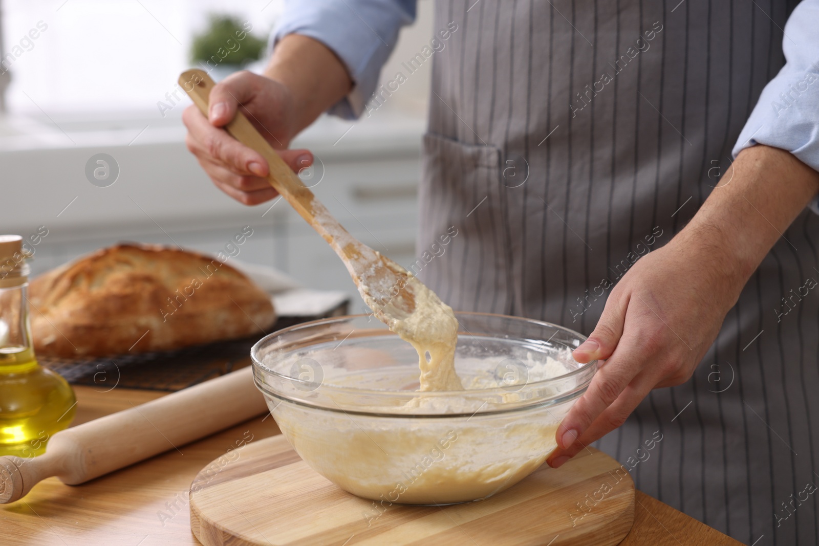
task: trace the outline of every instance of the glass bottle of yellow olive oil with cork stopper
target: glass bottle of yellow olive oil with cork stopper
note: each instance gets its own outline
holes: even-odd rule
[[[0,236],[0,455],[34,457],[70,425],[74,391],[40,366],[29,328],[28,264],[17,236]]]

